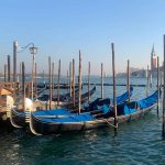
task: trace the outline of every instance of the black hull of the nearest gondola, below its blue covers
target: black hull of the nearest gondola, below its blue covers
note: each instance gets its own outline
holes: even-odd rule
[[[130,122],[132,120],[143,118],[145,113],[150,112],[154,106],[145,110],[139,110],[138,112],[132,114],[119,116],[118,123],[120,124],[123,122]],[[113,123],[114,123],[114,118],[112,117],[108,119],[96,119],[92,121],[85,121],[85,122],[58,123],[58,122],[43,122],[42,120],[35,118],[33,114],[31,116],[32,128],[35,130],[36,133],[43,135],[100,129],[102,127],[110,127],[109,124],[113,124]]]

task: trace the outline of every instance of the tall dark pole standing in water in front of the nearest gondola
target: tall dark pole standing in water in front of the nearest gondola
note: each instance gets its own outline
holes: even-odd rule
[[[117,88],[116,88],[116,64],[114,64],[114,44],[111,43],[112,48],[112,74],[113,74],[113,108],[114,108],[114,132],[118,130],[117,120]]]

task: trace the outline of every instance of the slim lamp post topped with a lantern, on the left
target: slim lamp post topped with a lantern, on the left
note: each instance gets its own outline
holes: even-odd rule
[[[29,50],[30,50],[30,53],[33,55],[32,57],[32,94],[31,94],[31,98],[33,100],[34,63],[35,63],[35,54],[37,53],[37,47],[35,47],[34,44],[32,43],[32,47],[30,47]]]

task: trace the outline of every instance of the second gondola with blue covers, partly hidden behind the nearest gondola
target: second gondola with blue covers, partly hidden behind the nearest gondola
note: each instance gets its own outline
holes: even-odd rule
[[[133,92],[133,88],[131,87],[130,88],[130,97],[132,96],[132,92]],[[128,100],[129,98],[129,92],[125,91],[123,95],[117,97],[117,103],[123,103]],[[33,109],[33,106],[32,103],[29,103],[31,102],[30,99],[25,99],[25,110],[26,109]],[[107,105],[107,106],[110,106],[112,101],[110,101],[109,98],[106,98],[106,99],[97,99],[97,101],[95,100],[94,102],[90,102],[89,103],[89,107],[85,107],[82,109],[82,112],[88,112],[89,110],[98,110],[97,108],[101,107],[101,105]],[[22,127],[25,127],[26,123],[25,123],[25,112],[22,111],[22,105],[21,102],[19,102],[19,107],[16,106],[15,108],[13,108],[11,110],[11,113],[10,113],[10,121],[12,123],[13,127],[15,128],[22,128]],[[97,107],[98,106],[98,107]],[[20,110],[21,109],[21,110]],[[58,109],[55,109],[55,110],[40,110],[37,111],[38,113],[41,114],[44,114],[44,112],[53,112],[53,114],[57,114],[57,116],[68,116],[68,114],[73,114],[73,113],[77,113],[77,110],[70,110],[70,109],[66,109],[66,108],[58,108]],[[36,113],[37,113],[36,112]]]

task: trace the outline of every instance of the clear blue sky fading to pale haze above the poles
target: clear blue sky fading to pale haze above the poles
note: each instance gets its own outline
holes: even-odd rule
[[[66,75],[75,58],[78,72],[78,52],[82,56],[82,74],[100,75],[101,63],[112,73],[111,43],[114,43],[116,69],[123,73],[127,61],[131,67],[146,68],[153,44],[163,62],[165,34],[164,0],[1,0],[0,1],[0,61],[1,72],[7,55],[13,56],[13,41],[19,47],[34,43],[37,72],[48,72],[48,56],[62,61]],[[20,63],[31,72],[32,55],[26,48],[18,53]],[[12,66],[11,66],[12,67]]]

